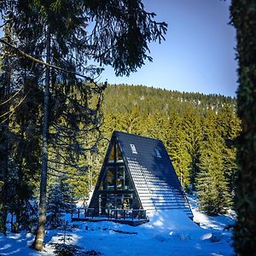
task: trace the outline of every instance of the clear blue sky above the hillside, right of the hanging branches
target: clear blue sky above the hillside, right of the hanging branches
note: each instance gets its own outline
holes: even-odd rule
[[[166,21],[162,44],[149,44],[153,62],[137,73],[116,77],[106,67],[100,81],[143,84],[167,90],[236,96],[236,31],[230,26],[230,0],[143,0],[145,9]],[[0,32],[1,35],[1,32]]]

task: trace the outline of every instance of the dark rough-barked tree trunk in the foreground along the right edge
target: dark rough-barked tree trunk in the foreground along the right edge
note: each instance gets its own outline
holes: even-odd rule
[[[241,119],[234,246],[237,254],[247,256],[256,255],[256,3],[254,0],[232,0],[230,11],[231,22],[236,27],[237,113]]]

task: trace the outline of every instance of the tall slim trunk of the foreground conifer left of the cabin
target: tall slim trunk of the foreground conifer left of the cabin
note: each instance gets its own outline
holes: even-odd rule
[[[49,27],[46,32],[46,62],[50,61],[50,33]],[[48,133],[49,133],[49,67],[46,67],[45,88],[44,88],[44,124],[43,124],[43,147],[42,147],[42,168],[40,183],[40,201],[37,236],[33,243],[36,250],[42,251],[44,247],[44,230],[46,224],[46,187],[48,171]]]

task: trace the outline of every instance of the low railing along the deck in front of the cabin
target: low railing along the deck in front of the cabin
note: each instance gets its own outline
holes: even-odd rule
[[[97,217],[105,217],[108,219],[147,219],[146,211],[143,209],[108,209],[102,208]],[[77,218],[95,218],[94,208],[78,208]],[[74,217],[74,216],[73,216]]]

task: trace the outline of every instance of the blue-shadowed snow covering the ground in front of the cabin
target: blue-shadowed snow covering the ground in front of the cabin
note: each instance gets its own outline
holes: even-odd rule
[[[194,197],[189,198],[195,224],[183,212],[163,211],[149,213],[150,221],[137,227],[112,222],[77,222],[71,235],[72,244],[84,251],[102,255],[234,255],[231,231],[224,227],[234,223],[232,214],[208,217],[198,212]],[[199,225],[200,224],[200,225]],[[125,234],[126,233],[126,234]],[[49,242],[57,242],[61,231],[46,234],[45,252],[38,253],[28,246],[32,234],[0,235],[0,255],[53,255]]]

